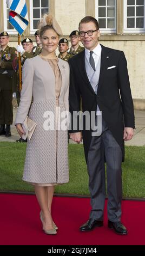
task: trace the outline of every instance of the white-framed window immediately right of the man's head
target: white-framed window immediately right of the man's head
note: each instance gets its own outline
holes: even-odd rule
[[[96,19],[103,33],[116,32],[116,0],[96,0]]]

